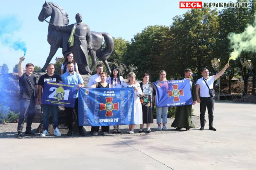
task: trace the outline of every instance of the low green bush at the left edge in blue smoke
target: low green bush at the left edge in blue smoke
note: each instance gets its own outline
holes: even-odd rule
[[[0,104],[0,124],[17,122],[20,113],[15,113],[10,110],[10,107],[6,107]]]

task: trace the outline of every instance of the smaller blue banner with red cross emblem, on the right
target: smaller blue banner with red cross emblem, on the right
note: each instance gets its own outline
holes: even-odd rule
[[[154,82],[157,89],[157,107],[192,105],[191,83],[189,79]]]

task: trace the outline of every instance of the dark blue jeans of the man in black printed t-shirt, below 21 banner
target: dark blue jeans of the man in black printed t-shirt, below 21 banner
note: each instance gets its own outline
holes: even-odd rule
[[[53,128],[55,129],[56,127],[58,127],[58,106],[42,104],[41,107],[43,108],[44,112],[44,130],[48,131],[50,110],[52,112]]]

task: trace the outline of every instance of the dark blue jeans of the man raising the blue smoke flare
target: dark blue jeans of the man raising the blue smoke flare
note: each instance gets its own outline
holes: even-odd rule
[[[34,116],[35,116],[35,99],[30,100],[30,99],[21,98],[20,99],[20,116],[19,116],[17,131],[22,132],[25,119],[27,118],[26,132],[30,132],[31,124]]]

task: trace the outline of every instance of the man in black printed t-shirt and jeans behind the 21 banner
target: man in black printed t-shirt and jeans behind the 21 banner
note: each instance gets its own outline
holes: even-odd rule
[[[58,106],[50,105],[50,104],[42,104],[41,101],[42,101],[42,89],[44,87],[44,82],[51,81],[56,83],[62,83],[62,80],[60,75],[54,74],[55,68],[53,64],[49,64],[46,70],[47,70],[47,74],[42,75],[38,81],[38,99],[39,99],[38,103],[41,104],[41,107],[44,111],[44,131],[41,134],[41,136],[44,137],[48,134],[50,110],[52,112],[52,123],[54,128],[54,135],[61,136],[61,133],[58,130]]]

